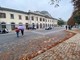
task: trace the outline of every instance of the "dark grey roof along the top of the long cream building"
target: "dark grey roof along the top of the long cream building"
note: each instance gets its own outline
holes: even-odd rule
[[[11,11],[11,12],[17,12],[17,13],[22,13],[22,14],[34,14],[34,15],[38,15],[38,16],[42,16],[42,17],[46,17],[46,18],[50,18],[50,19],[55,19],[57,20],[56,18],[53,18],[50,14],[45,14],[40,11],[35,11],[35,12],[24,12],[24,11],[21,11],[21,10],[15,10],[15,9],[10,9],[10,8],[4,8],[4,7],[0,7],[0,10],[3,10],[3,11]],[[46,11],[44,11],[46,12]],[[47,12],[48,13],[48,12]]]

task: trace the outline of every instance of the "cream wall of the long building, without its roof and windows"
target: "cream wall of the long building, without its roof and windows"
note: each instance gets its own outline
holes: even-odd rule
[[[6,28],[11,31],[11,23],[15,23],[15,27],[19,26],[19,23],[22,23],[24,27],[26,28],[26,23],[28,24],[28,27],[32,27],[32,24],[34,23],[35,27],[37,27],[37,24],[39,25],[38,28],[40,29],[40,24],[42,24],[42,28],[46,28],[49,26],[57,25],[57,20],[53,20],[50,18],[45,18],[43,16],[35,15],[35,14],[24,14],[24,13],[17,13],[17,12],[10,12],[10,11],[0,11],[1,13],[6,13],[6,18],[0,18],[0,23],[5,22]],[[10,14],[14,14],[14,19],[11,19]],[[19,19],[19,15],[21,15],[22,19]],[[25,16],[28,16],[29,20],[25,19]],[[31,19],[31,17],[34,17],[34,20]],[[38,17],[38,20],[37,20]],[[42,21],[40,21],[40,18],[42,18]],[[45,21],[43,21],[43,19]],[[46,26],[47,25],[47,26]],[[1,24],[0,24],[1,27]]]

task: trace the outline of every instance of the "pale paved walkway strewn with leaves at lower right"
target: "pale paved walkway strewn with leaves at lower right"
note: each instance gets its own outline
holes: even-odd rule
[[[32,60],[80,60],[80,33]]]

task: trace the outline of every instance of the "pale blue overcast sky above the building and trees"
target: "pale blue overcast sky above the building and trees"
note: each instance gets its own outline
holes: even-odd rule
[[[62,0],[59,7],[50,5],[50,0],[0,0],[0,6],[21,11],[48,11],[53,18],[67,21],[73,12],[71,0]]]

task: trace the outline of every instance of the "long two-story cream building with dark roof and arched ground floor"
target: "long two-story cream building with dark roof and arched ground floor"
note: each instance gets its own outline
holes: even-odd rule
[[[0,7],[0,29],[6,28],[11,31],[20,24],[23,25],[25,29],[28,29],[29,27],[43,29],[57,26],[57,19],[39,11],[24,12]]]

